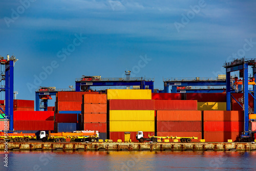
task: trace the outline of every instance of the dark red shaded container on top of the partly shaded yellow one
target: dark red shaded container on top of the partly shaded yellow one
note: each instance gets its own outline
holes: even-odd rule
[[[226,93],[186,93],[186,100],[226,102]]]

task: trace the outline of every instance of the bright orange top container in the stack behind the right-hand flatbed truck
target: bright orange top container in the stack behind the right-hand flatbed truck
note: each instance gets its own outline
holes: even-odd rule
[[[201,111],[157,111],[157,121],[201,121]]]

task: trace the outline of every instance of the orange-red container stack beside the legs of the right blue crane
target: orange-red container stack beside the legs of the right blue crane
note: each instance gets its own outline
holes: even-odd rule
[[[244,114],[241,111],[203,111],[206,142],[239,141],[243,132]]]

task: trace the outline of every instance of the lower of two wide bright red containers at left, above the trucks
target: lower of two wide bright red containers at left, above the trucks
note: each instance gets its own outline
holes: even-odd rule
[[[24,131],[41,131],[54,130],[54,121],[38,121],[38,120],[15,120],[13,124],[14,130]]]

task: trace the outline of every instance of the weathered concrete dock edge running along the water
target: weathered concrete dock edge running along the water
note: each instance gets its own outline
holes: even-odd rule
[[[0,151],[7,148],[0,143]],[[8,142],[9,151],[256,151],[255,143]]]

